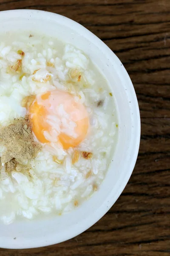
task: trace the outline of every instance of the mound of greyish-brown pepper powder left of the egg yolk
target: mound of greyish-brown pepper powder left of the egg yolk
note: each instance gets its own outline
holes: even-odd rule
[[[29,160],[34,159],[41,150],[41,145],[34,141],[28,116],[14,119],[8,126],[0,127],[0,144],[6,151],[1,156],[6,170],[21,171]]]

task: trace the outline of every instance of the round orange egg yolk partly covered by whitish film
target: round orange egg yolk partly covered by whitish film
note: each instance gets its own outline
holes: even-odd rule
[[[29,107],[29,114],[32,131],[41,143],[52,142],[45,132],[57,137],[64,149],[76,147],[86,137],[87,110],[70,93],[53,90],[37,96]]]

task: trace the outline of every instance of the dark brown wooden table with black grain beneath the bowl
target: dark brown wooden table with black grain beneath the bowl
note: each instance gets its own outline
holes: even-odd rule
[[[76,20],[125,65],[139,101],[141,144],[125,190],[70,241],[0,256],[170,256],[170,0],[0,0],[0,11],[40,9]]]

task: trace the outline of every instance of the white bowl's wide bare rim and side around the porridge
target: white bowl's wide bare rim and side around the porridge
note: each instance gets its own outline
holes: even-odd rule
[[[125,188],[136,163],[140,141],[140,114],[135,90],[125,68],[111,49],[88,29],[61,15],[37,10],[0,12],[0,33],[23,30],[37,30],[73,44],[99,67],[115,97],[119,138],[113,161],[98,192],[63,216],[14,222],[8,226],[0,224],[0,247],[3,248],[56,244],[91,227],[112,207]]]

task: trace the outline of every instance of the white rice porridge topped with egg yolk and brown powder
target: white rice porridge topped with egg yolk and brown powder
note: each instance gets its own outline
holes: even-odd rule
[[[0,38],[0,221],[65,214],[105,178],[114,96],[74,46],[34,32]]]

